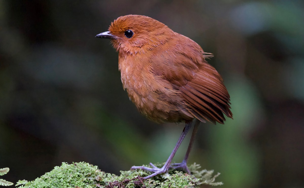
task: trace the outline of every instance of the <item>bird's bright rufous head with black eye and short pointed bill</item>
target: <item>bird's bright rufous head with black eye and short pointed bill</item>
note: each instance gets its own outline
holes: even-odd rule
[[[166,43],[174,37],[174,32],[163,23],[142,15],[120,16],[114,20],[109,31],[96,35],[110,38],[119,53],[145,53]]]

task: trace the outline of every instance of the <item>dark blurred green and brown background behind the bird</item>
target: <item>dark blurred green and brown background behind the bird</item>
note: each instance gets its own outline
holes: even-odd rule
[[[234,120],[202,124],[190,163],[220,172],[222,187],[304,187],[302,0],[0,1],[2,178],[33,180],[63,161],[119,174],[167,159],[184,124],[140,115],[118,54],[95,38],[127,14],[155,18],[215,55]]]

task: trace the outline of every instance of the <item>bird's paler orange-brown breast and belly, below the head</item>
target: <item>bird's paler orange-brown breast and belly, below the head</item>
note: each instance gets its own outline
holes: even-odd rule
[[[184,120],[182,112],[186,107],[181,94],[168,81],[154,75],[151,66],[146,57],[119,57],[121,81],[130,100],[141,114],[157,123]]]

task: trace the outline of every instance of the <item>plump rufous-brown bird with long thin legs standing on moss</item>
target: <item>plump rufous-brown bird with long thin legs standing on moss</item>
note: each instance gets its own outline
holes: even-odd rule
[[[156,123],[185,122],[185,127],[164,166],[133,166],[151,172],[145,179],[187,167],[200,122],[224,124],[232,118],[230,95],[223,78],[204,52],[190,38],[143,15],[125,15],[111,22],[108,31],[95,37],[108,38],[118,52],[118,66],[124,90],[141,114]],[[188,149],[181,163],[172,159],[194,123]]]

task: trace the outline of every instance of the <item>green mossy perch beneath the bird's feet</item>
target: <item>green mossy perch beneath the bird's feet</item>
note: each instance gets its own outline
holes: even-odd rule
[[[157,164],[161,167],[163,164]],[[148,166],[148,165],[147,165]],[[143,177],[150,175],[150,172],[144,170],[120,171],[119,176],[105,173],[97,166],[80,163],[62,163],[60,167],[55,167],[52,171],[33,181],[19,180],[16,186],[19,188],[29,187],[100,187],[100,188],[196,188],[201,184],[222,185],[222,182],[215,182],[213,170],[199,170],[200,165],[192,164],[189,170],[193,175],[169,170],[168,174],[154,176],[145,180]]]

